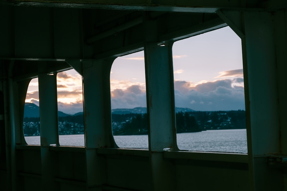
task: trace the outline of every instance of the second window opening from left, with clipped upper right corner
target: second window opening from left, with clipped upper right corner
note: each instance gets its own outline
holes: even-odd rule
[[[57,73],[59,143],[85,146],[82,76],[74,69]]]

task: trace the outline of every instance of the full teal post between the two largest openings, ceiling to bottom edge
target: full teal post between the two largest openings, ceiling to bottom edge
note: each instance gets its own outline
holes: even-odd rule
[[[176,190],[175,168],[163,149],[178,150],[175,128],[172,43],[157,42],[157,23],[145,18],[146,92],[152,190]]]

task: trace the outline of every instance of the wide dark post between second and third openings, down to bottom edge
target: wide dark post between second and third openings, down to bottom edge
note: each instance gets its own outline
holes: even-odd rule
[[[112,133],[110,68],[114,58],[83,61],[83,93],[87,190],[102,190],[106,180],[105,158],[96,148],[117,147]]]

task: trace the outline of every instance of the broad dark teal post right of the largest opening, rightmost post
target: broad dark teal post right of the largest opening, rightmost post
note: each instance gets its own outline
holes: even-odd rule
[[[283,176],[265,157],[280,154],[278,81],[274,25],[267,12],[245,12],[251,149],[248,150],[254,190],[283,190]],[[251,152],[250,152],[251,151]]]

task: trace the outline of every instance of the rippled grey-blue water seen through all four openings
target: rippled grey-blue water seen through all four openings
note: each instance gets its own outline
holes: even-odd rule
[[[148,135],[117,135],[115,142],[121,148],[148,149]],[[25,137],[30,145],[40,145],[40,136]],[[84,146],[84,135],[59,135],[60,145]],[[196,133],[178,133],[181,150],[247,153],[246,129],[208,130]]]

